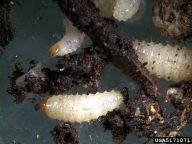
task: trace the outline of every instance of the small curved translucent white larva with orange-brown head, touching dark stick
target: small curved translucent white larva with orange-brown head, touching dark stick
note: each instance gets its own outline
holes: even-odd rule
[[[84,40],[85,34],[73,26],[69,19],[65,18],[63,25],[66,29],[64,37],[49,49],[51,57],[63,56],[76,51]]]

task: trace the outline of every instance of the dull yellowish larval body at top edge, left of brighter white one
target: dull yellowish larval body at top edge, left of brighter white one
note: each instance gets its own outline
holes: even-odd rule
[[[99,8],[99,14],[102,17],[110,18],[113,16],[116,0],[93,0],[93,3]]]

